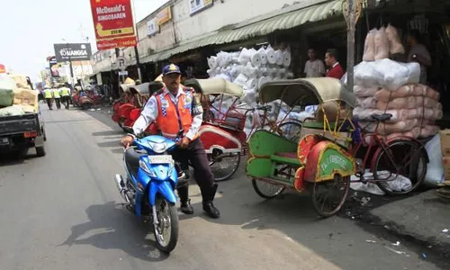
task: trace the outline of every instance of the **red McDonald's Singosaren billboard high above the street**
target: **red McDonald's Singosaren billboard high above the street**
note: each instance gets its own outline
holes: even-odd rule
[[[91,0],[97,49],[136,46],[130,0]]]

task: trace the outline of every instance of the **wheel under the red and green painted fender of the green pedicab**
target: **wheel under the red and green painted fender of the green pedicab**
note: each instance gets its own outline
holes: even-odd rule
[[[336,174],[333,180],[311,183],[310,186],[314,209],[320,216],[329,218],[335,215],[346,202],[350,176],[342,177]]]

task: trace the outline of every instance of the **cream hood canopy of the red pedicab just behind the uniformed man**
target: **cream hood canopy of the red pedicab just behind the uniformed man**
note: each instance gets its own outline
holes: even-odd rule
[[[242,87],[221,78],[189,79],[184,82],[184,85],[193,87],[196,93],[225,94],[236,97],[244,96],[244,89]]]

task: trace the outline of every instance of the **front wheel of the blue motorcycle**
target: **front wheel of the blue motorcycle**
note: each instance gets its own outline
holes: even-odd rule
[[[157,225],[153,225],[153,234],[157,249],[170,253],[178,242],[179,221],[175,204],[162,197],[157,198]]]

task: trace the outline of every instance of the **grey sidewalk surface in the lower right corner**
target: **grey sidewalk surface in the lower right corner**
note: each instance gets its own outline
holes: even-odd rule
[[[450,203],[437,197],[436,190],[385,204],[367,218],[450,257]]]

